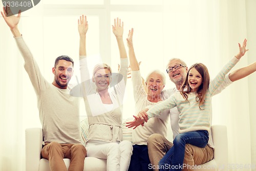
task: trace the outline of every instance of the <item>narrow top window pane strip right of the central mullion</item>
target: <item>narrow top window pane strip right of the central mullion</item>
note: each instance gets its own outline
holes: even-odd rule
[[[111,0],[111,5],[162,5],[163,1],[159,0]]]

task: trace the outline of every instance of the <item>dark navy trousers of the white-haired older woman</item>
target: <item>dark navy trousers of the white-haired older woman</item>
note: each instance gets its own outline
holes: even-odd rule
[[[150,158],[148,157],[147,145],[133,145],[133,155],[128,171],[149,171]]]

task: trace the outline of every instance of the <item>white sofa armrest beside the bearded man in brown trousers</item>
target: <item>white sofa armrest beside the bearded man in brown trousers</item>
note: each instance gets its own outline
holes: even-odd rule
[[[26,136],[26,171],[39,170],[42,149],[42,128],[27,128]]]

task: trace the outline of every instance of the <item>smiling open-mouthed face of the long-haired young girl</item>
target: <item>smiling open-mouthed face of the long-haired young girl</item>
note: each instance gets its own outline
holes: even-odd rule
[[[191,68],[188,72],[188,85],[191,88],[190,92],[198,91],[199,87],[203,82],[202,75],[196,70],[196,68]]]

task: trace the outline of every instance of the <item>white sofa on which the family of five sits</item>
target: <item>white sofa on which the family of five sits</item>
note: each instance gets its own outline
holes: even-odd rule
[[[130,140],[130,133],[123,127],[124,137]],[[227,170],[228,149],[227,149],[227,130],[226,126],[214,125],[211,128],[212,138],[215,144],[214,159],[198,166],[195,170]],[[129,134],[129,136],[128,136]],[[40,158],[42,148],[42,129],[27,128],[26,129],[26,171],[50,171],[49,161]],[[70,159],[63,159],[67,168],[70,164]],[[214,168],[213,168],[214,167]],[[206,169],[208,168],[208,169]],[[106,160],[97,159],[94,157],[86,157],[84,159],[84,168],[87,171],[103,171],[106,170]],[[137,170],[135,170],[137,171]]]

